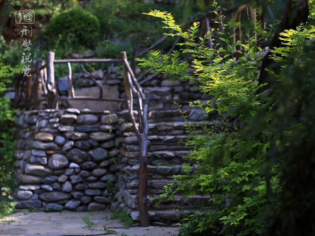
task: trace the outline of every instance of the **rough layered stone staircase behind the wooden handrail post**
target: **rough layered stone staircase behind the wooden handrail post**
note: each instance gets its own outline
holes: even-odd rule
[[[149,137],[151,148],[148,154],[148,200],[158,197],[164,185],[174,182],[173,175],[184,174],[182,164],[189,160],[185,158],[193,147],[185,146],[184,142],[189,139],[186,132],[187,125],[198,125],[207,122],[209,125],[217,124],[215,114],[209,117],[201,110],[189,109],[189,101],[206,99],[200,93],[183,93],[183,88],[176,87],[149,87],[146,88],[150,96],[149,104]],[[177,103],[174,104],[175,101]],[[178,105],[182,107],[180,112]],[[185,118],[182,116],[185,114]],[[139,146],[135,134],[132,132],[132,124],[124,123],[121,131],[124,133],[122,156],[125,167],[122,170],[120,182],[125,182],[119,198],[124,199],[121,207],[129,210],[131,217],[136,220],[137,211],[137,188],[139,172]],[[190,196],[185,198],[181,195],[174,196],[173,201],[163,202],[159,206],[157,201],[149,200],[150,217],[155,221],[178,221],[194,205],[206,204],[209,197]],[[122,201],[121,201],[122,202]]]

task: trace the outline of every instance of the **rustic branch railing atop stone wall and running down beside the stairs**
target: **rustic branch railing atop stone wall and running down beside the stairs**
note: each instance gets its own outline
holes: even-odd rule
[[[139,85],[131,66],[127,60],[126,52],[121,53],[121,59],[55,59],[54,52],[48,52],[46,57],[46,63],[44,61],[36,63],[35,81],[30,84],[35,86],[35,97],[33,106],[37,109],[41,108],[41,102],[47,100],[47,106],[49,109],[58,109],[59,101],[65,100],[94,100],[94,101],[112,101],[112,102],[126,102],[126,107],[134,128],[134,132],[138,139],[140,146],[140,172],[139,172],[139,187],[138,187],[138,206],[139,206],[139,220],[141,226],[149,226],[150,219],[147,207],[147,184],[148,184],[148,172],[147,172],[147,159],[148,150],[150,148],[150,142],[148,141],[148,97],[144,93],[143,89]],[[68,68],[68,84],[69,84],[69,96],[59,96],[58,89],[55,82],[55,63],[67,64]],[[92,96],[76,96],[75,89],[72,83],[72,70],[71,63],[80,63],[81,68],[85,74],[99,88],[99,95],[97,97]],[[112,63],[111,67],[104,76],[102,82],[97,83],[91,72],[88,72],[82,63]],[[122,98],[110,98],[103,96],[103,84],[113,69],[114,63],[122,63],[124,73],[124,87],[126,92],[126,99]],[[44,95],[42,97],[42,94]],[[137,118],[135,118],[134,101],[136,104]]]

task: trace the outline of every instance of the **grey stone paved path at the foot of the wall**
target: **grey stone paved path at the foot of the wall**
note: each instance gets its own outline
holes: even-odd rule
[[[94,223],[87,228],[82,219],[89,216]],[[110,219],[109,211],[98,212],[17,212],[0,219],[0,236],[83,236],[101,235],[108,230],[115,234],[109,236],[172,236],[178,234],[176,227],[151,226],[125,229],[118,220]],[[107,232],[108,233],[108,232]],[[124,235],[125,234],[125,235]]]

